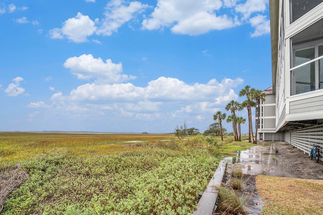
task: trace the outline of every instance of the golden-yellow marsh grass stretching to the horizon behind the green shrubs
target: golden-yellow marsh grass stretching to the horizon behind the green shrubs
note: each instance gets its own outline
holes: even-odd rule
[[[0,169],[45,154],[52,149],[65,149],[77,157],[114,154],[140,150],[127,148],[126,141],[154,142],[172,139],[174,134],[76,134],[0,132]]]

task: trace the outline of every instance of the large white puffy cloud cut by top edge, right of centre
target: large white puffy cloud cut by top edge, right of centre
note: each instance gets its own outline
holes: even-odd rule
[[[148,30],[171,27],[174,33],[189,35],[233,27],[233,19],[216,15],[222,6],[220,0],[159,0],[150,18],[143,20],[142,26]]]

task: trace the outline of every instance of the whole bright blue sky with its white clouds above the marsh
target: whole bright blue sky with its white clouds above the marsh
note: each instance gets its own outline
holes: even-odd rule
[[[0,29],[0,131],[202,132],[272,86],[268,0],[0,0]]]

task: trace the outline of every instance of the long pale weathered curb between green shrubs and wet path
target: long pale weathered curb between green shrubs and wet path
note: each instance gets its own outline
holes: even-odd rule
[[[214,172],[212,179],[204,190],[200,200],[198,201],[193,215],[212,215],[214,210],[216,210],[219,190],[215,186],[221,185],[226,168],[227,163],[225,161],[221,161],[216,172]]]

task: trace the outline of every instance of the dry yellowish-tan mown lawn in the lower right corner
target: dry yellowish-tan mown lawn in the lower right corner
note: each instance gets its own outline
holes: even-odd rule
[[[322,214],[323,180],[256,176],[263,215]]]

